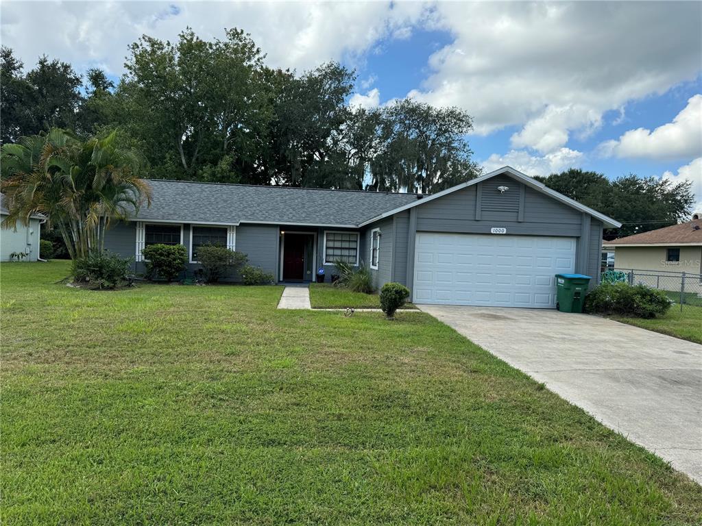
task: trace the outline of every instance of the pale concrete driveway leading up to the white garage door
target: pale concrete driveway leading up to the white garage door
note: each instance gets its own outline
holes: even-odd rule
[[[702,345],[586,314],[418,306],[702,483]]]

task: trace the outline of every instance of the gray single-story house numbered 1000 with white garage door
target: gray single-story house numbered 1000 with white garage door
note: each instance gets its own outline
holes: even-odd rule
[[[418,303],[555,308],[557,273],[597,281],[615,220],[505,167],[431,196],[150,180],[153,203],[107,232],[135,258],[152,243],[221,243],[278,281],[314,281],[344,258]]]

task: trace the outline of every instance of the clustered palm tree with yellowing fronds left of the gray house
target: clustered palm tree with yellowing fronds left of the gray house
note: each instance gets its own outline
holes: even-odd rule
[[[151,204],[151,189],[138,178],[138,157],[116,144],[114,132],[82,141],[53,128],[4,144],[0,163],[9,212],[3,224],[14,227],[32,214],[45,215],[72,259],[102,252],[111,222]]]

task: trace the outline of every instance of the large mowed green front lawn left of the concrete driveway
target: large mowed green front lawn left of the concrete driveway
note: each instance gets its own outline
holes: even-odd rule
[[[2,264],[8,525],[682,525],[702,488],[425,313]]]

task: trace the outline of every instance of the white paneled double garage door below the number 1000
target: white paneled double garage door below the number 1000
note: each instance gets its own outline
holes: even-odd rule
[[[413,301],[555,309],[555,274],[575,269],[575,238],[418,232]]]

